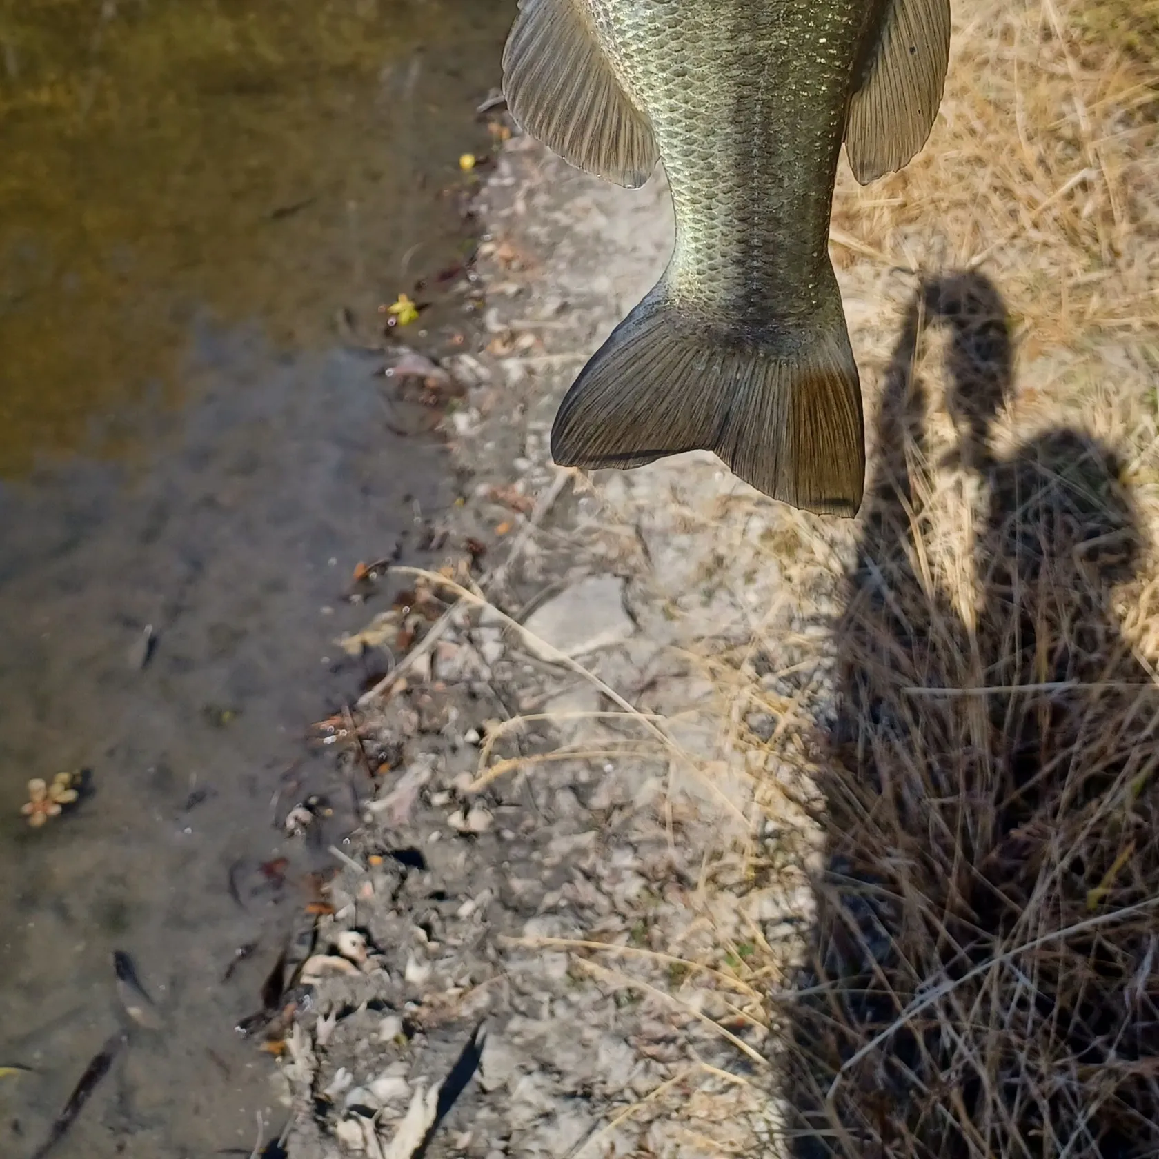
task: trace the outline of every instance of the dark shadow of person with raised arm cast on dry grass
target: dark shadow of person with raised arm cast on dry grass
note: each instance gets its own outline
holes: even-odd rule
[[[936,581],[931,326],[983,482],[965,618]],[[817,927],[777,1004],[803,1156],[1159,1149],[1159,686],[1113,606],[1144,597],[1144,533],[1088,433],[993,453],[1006,326],[985,279],[936,279],[885,378],[816,738]]]

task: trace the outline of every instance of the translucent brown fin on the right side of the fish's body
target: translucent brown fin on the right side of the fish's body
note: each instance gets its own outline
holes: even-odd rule
[[[949,63],[949,0],[888,0],[850,102],[845,152],[862,185],[901,169],[933,129]]]

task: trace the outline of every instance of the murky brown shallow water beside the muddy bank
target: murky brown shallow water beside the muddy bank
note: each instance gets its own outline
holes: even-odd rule
[[[459,253],[444,191],[512,8],[0,0],[0,1066],[35,1069],[0,1078],[5,1156],[116,1028],[114,949],[166,1029],[57,1153],[248,1154],[284,1118],[233,1026],[342,811],[321,850],[271,821],[366,675],[334,644],[371,611],[353,564],[421,559],[454,482],[334,319]],[[81,767],[92,795],[29,828],[28,779]]]

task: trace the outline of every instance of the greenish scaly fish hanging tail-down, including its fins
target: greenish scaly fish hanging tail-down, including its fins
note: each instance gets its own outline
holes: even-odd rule
[[[522,0],[508,109],[586,173],[637,189],[662,161],[668,268],[571,384],[563,467],[714,452],[792,506],[853,517],[861,385],[829,226],[844,143],[867,184],[925,146],[949,0]]]

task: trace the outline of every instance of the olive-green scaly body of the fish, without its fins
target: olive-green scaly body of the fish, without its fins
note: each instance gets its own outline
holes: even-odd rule
[[[844,329],[829,224],[876,0],[585,2],[664,161],[671,305],[722,336],[781,335],[785,353]]]

